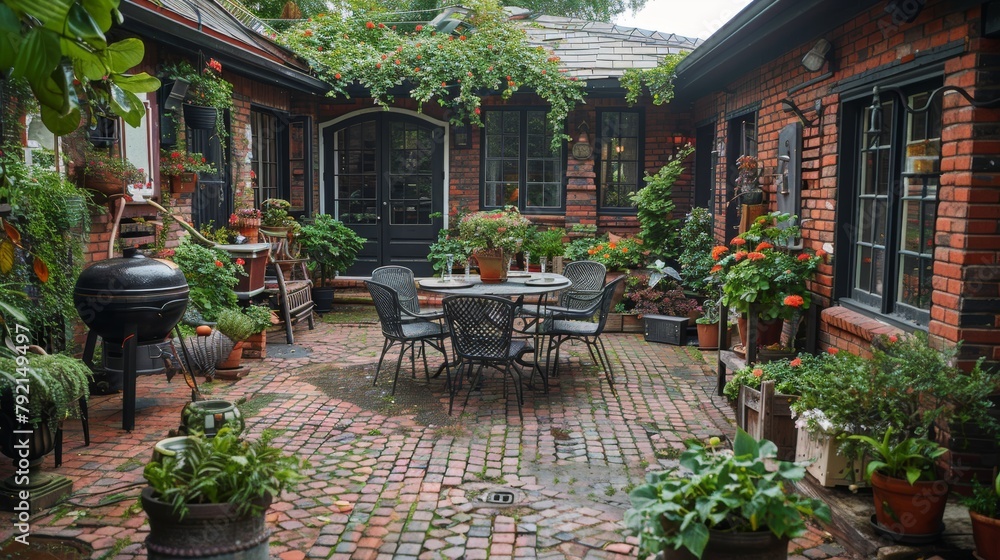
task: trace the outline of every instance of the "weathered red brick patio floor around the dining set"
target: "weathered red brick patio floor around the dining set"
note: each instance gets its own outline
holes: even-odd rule
[[[548,394],[525,390],[523,422],[513,391],[508,404],[495,378],[468,406],[456,399],[450,417],[443,378],[414,379],[405,362],[395,398],[389,375],[372,388],[382,344],[374,324],[320,322],[297,330],[291,347],[275,344],[276,332],[269,338],[268,358],[251,360],[249,376],[203,389],[248,399],[249,430],[277,431],[279,446],[311,463],[308,481],[268,513],[271,554],[284,560],[634,558],[637,540],[622,524],[629,489],[647,469],[674,464],[685,439],[735,430],[731,408],[713,396],[714,353],[636,334],[605,335],[617,395],[586,348],[569,346]],[[36,516],[34,534],[87,541],[94,558],[146,557],[142,468],[190,391],[179,377],[147,376],[138,395],[131,433],[121,430],[117,395],[91,398],[89,447],[80,423],[67,422],[63,465],[50,456],[46,470],[73,479],[74,494]],[[482,500],[498,488],[516,502]],[[4,524],[0,536],[12,531]],[[790,550],[797,559],[845,554],[815,528]]]

